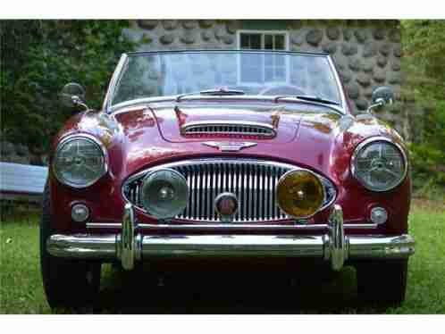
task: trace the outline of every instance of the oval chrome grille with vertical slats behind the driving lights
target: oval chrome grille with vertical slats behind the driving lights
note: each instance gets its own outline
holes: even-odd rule
[[[130,177],[124,184],[123,194],[142,208],[139,188],[145,175],[156,169],[172,168],[181,172],[189,185],[189,204],[176,219],[186,221],[220,221],[214,211],[214,198],[231,192],[239,199],[239,210],[234,222],[261,222],[289,219],[281,212],[275,198],[275,187],[281,176],[298,167],[284,163],[248,159],[199,159],[180,163],[167,163]],[[332,203],[335,188],[320,177],[326,189],[324,205]]]

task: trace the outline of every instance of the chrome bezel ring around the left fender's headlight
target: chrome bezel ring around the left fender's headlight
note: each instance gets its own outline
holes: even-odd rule
[[[85,182],[83,184],[73,183],[70,180],[64,180],[62,175],[58,171],[58,167],[55,163],[55,158],[57,157],[57,154],[62,150],[63,146],[69,144],[71,141],[80,140],[80,139],[86,140],[89,143],[92,143],[95,146],[97,146],[97,148],[99,149],[99,152],[101,152],[101,154],[103,156],[103,163],[104,163],[102,172],[100,174],[98,174],[94,180],[89,180],[88,182]],[[57,147],[55,148],[55,154],[54,154],[54,158],[53,158],[52,168],[53,168],[53,174],[55,176],[55,179],[58,180],[63,185],[69,186],[71,188],[88,188],[89,186],[92,186],[93,184],[95,184],[98,180],[102,179],[102,177],[108,172],[108,153],[105,148],[105,145],[100,140],[95,138],[94,136],[91,136],[88,134],[70,135],[70,136],[63,138],[57,144]]]

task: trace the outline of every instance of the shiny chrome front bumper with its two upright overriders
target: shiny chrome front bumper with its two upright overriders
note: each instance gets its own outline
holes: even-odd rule
[[[133,208],[125,205],[120,234],[55,234],[46,241],[53,256],[120,260],[131,270],[136,261],[155,256],[285,256],[317,257],[339,271],[348,259],[398,259],[414,254],[409,235],[345,236],[340,205],[333,205],[328,232],[322,236],[146,235],[138,231]]]

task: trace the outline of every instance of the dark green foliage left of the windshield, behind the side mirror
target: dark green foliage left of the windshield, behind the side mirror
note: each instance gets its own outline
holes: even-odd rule
[[[46,151],[72,114],[58,94],[68,82],[100,108],[119,56],[134,45],[128,21],[1,21],[2,133],[32,152]]]

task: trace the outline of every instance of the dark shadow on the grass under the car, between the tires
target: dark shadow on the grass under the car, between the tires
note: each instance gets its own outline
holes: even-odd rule
[[[310,274],[309,274],[310,273]],[[355,271],[346,267],[333,280],[314,272],[193,271],[159,276],[106,266],[100,296],[87,313],[385,313],[357,302]]]

